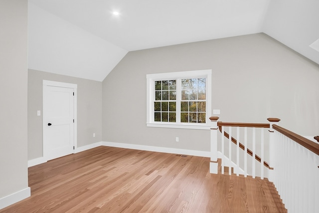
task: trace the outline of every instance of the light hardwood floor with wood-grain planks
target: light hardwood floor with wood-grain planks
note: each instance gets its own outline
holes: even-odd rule
[[[273,184],[209,173],[209,158],[97,147],[29,168],[0,213],[286,213]]]

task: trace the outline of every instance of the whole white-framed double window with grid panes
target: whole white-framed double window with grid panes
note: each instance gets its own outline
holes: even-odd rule
[[[209,129],[211,70],[147,75],[147,126]]]

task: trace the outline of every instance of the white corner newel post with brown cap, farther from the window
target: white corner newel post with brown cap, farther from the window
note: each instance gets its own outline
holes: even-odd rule
[[[278,124],[279,118],[267,118],[269,121],[269,167],[274,168],[276,161],[275,134],[273,124]],[[269,170],[269,181],[274,182],[274,169]]]

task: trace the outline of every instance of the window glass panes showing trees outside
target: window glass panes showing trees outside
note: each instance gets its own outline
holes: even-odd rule
[[[180,80],[180,122],[206,123],[206,78]],[[155,81],[154,121],[176,122],[176,80]]]

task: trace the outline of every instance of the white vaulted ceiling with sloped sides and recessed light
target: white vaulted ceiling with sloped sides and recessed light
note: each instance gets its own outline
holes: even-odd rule
[[[319,64],[319,0],[28,2],[30,69],[103,81],[128,51],[259,32]]]

